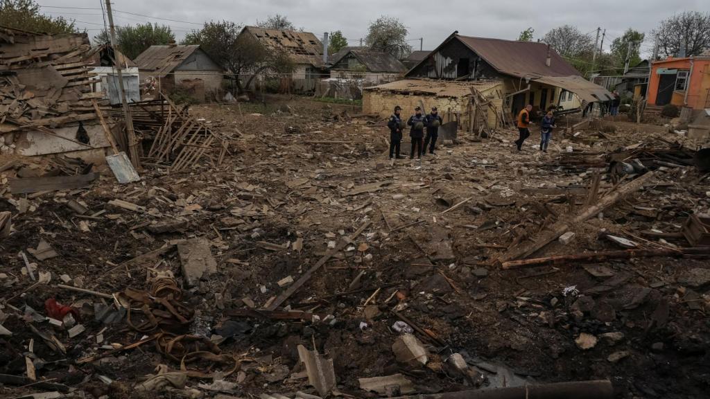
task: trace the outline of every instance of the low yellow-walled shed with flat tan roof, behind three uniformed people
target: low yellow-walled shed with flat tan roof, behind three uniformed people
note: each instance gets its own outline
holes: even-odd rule
[[[500,80],[476,81],[440,81],[432,79],[405,79],[363,89],[362,107],[365,114],[392,114],[396,105],[402,107],[405,116],[414,114],[415,106],[422,105],[425,111],[432,106],[439,109],[439,114],[459,114],[460,126],[467,126],[471,89],[476,89],[496,109],[503,105],[503,82]],[[489,112],[488,127],[498,126],[496,114]],[[444,121],[446,122],[446,121]]]

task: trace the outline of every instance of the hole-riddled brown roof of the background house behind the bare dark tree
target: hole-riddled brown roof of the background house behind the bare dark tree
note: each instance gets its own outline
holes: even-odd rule
[[[245,26],[241,33],[247,32],[267,48],[279,48],[291,55],[297,64],[323,66],[323,43],[310,32],[280,31],[256,26]]]

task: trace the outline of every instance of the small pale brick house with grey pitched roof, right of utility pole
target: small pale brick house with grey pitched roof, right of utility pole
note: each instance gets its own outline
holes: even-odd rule
[[[224,69],[200,45],[151,45],[135,61],[141,83],[156,83],[163,91],[182,86],[204,97],[222,87]]]

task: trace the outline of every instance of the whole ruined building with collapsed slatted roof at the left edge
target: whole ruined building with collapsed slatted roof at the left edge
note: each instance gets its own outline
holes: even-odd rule
[[[0,145],[4,154],[104,162],[86,33],[41,35],[0,27]]]

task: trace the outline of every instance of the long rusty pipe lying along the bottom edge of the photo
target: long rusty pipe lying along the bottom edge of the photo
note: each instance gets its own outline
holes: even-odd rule
[[[512,388],[461,390],[431,395],[409,395],[391,399],[613,399],[609,380],[572,381]]]

